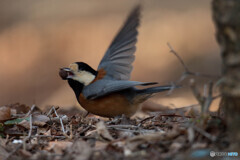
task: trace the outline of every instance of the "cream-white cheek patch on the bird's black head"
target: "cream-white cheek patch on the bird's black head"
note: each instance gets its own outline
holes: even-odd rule
[[[74,72],[72,79],[87,86],[95,79],[95,75],[87,71],[78,71]]]

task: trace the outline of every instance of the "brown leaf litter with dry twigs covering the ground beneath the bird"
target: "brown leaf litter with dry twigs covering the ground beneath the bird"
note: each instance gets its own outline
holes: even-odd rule
[[[230,146],[224,120],[191,107],[107,119],[14,104],[0,115],[0,160],[208,159]]]

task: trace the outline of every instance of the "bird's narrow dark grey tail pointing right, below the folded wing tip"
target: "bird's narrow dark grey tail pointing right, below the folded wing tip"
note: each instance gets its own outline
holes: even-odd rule
[[[174,88],[179,88],[179,86],[158,86],[158,87],[151,87],[151,88],[145,88],[145,89],[138,89],[137,90],[137,96],[134,98],[135,103],[142,103],[148,98],[152,97],[154,93],[168,91]]]

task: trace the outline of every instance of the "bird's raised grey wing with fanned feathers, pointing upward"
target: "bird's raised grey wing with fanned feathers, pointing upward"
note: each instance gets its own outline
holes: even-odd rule
[[[140,6],[135,7],[125,24],[112,41],[102,58],[98,70],[104,69],[105,79],[129,80],[132,62],[135,59],[137,27],[140,23]]]

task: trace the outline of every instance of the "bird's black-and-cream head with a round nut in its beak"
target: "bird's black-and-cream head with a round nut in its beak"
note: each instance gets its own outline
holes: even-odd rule
[[[73,80],[87,86],[95,79],[97,71],[86,63],[75,62],[68,68],[60,68],[59,75],[63,80]]]

